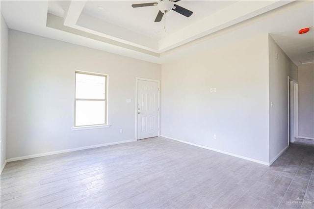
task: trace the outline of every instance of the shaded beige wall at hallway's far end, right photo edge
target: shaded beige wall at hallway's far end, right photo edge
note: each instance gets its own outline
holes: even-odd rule
[[[314,65],[298,68],[299,136],[314,139]]]

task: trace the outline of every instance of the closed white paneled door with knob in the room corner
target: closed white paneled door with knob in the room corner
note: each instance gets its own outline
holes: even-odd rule
[[[138,80],[137,139],[158,136],[158,82]]]

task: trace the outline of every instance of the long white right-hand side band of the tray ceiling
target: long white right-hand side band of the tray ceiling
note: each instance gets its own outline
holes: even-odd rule
[[[159,52],[165,52],[228,26],[248,20],[294,0],[238,1],[222,10],[172,33],[159,41]]]

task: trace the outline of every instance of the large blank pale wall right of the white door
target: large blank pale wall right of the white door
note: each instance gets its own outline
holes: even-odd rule
[[[161,134],[268,162],[268,73],[268,34],[163,64]]]

